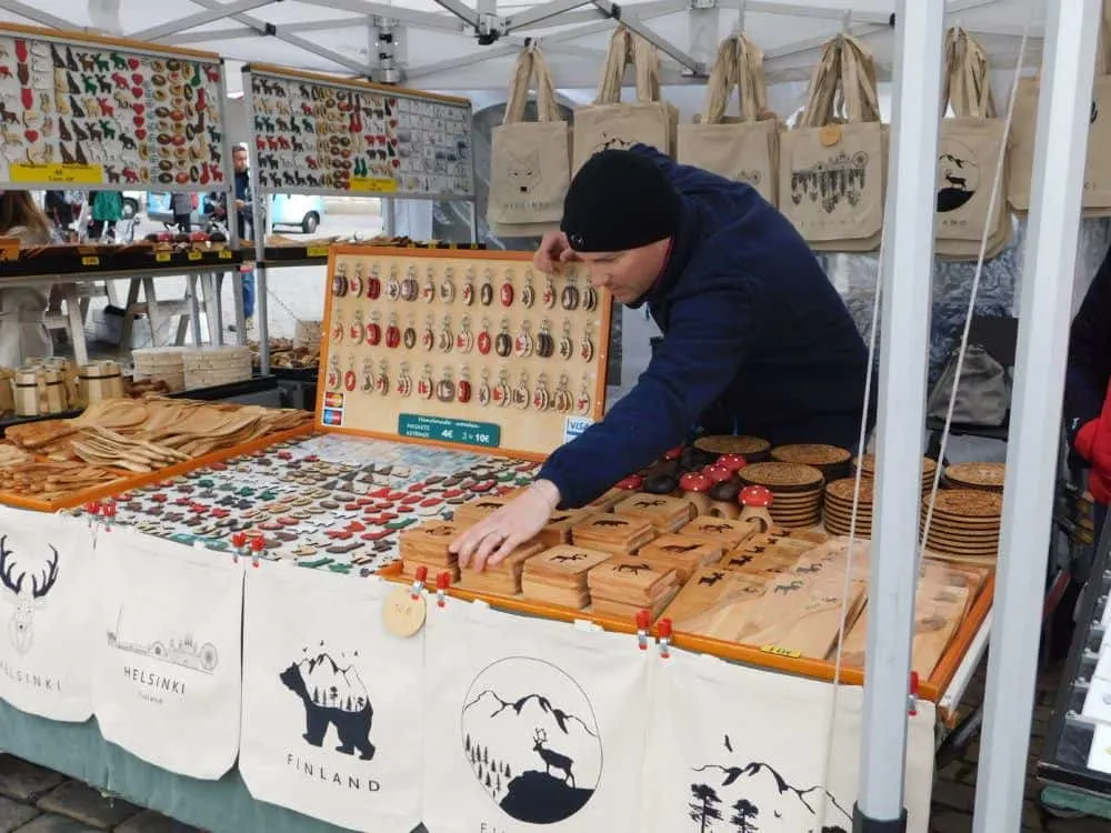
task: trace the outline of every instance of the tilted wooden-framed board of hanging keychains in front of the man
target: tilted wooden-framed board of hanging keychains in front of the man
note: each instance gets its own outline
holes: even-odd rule
[[[317,424],[547,459],[601,419],[611,304],[524,252],[333,247]]]

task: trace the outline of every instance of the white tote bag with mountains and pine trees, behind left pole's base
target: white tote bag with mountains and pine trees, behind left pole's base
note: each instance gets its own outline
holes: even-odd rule
[[[657,666],[639,831],[852,830],[860,783],[860,686],[840,689],[834,716],[832,686],[825,682],[675,650]],[[925,833],[933,704],[919,702],[918,714],[908,721],[907,830]]]

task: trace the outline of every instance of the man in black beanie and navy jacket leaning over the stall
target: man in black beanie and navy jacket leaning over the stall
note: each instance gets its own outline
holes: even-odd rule
[[[635,388],[557,449],[537,481],[452,543],[498,563],[559,506],[581,506],[692,430],[855,448],[868,351],[790,221],[751,187],[643,144],[592,157],[534,262],[583,264],[662,340]],[[492,558],[491,558],[492,556]]]

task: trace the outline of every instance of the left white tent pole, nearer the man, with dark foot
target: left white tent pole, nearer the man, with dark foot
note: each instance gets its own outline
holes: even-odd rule
[[[877,426],[877,505],[868,614],[860,795],[853,829],[905,830],[903,771],[918,583],[921,436],[933,282],[937,109],[944,0],[900,0],[895,13],[891,180],[884,217],[883,338]],[[905,104],[905,106],[904,106]]]

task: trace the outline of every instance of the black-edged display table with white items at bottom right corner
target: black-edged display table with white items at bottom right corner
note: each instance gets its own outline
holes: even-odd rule
[[[1091,575],[1038,777],[1111,796],[1111,524],[1104,528]]]

